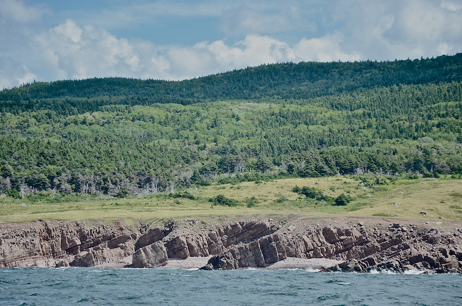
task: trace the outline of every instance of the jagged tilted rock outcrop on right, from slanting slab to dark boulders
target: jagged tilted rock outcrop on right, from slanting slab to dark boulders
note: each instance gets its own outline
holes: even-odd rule
[[[433,270],[462,273],[462,230],[440,233],[435,228],[409,229],[401,224],[367,228],[307,226],[302,221],[252,242],[230,247],[211,258],[205,270],[265,267],[286,257],[344,261],[325,271]]]

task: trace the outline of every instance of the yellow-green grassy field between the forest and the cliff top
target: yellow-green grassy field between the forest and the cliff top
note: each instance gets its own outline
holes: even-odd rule
[[[292,192],[296,185],[315,187],[334,198],[344,193],[350,195],[353,201],[344,206],[335,206],[324,201],[307,200],[304,195]],[[0,222],[123,220],[130,224],[138,220],[150,222],[195,216],[310,214],[462,221],[462,180],[449,177],[398,179],[370,188],[361,186],[358,180],[340,176],[281,179],[235,185],[214,184],[197,189],[186,188],[181,192],[191,195],[194,200],[173,198],[165,194],[123,199],[87,195],[59,196],[51,193],[12,199],[3,194],[0,195]],[[208,199],[217,195],[234,199],[237,204],[213,205]],[[255,197],[255,205],[247,207],[252,197]],[[422,211],[427,216],[422,216]]]

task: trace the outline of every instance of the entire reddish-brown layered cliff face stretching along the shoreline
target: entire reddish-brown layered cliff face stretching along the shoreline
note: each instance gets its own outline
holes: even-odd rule
[[[266,267],[287,257],[344,261],[326,271],[462,273],[462,230],[428,226],[272,219],[205,226],[169,222],[143,234],[121,226],[35,222],[0,225],[0,267],[94,266],[132,255],[133,267],[165,265],[168,258],[212,255],[203,269]]]

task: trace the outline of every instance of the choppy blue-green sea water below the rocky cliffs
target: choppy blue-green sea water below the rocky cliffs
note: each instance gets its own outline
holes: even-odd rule
[[[461,305],[462,275],[0,269],[0,305]]]

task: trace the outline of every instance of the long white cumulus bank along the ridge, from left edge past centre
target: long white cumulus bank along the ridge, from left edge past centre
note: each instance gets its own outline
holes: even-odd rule
[[[194,46],[157,47],[148,41],[118,39],[104,29],[80,26],[72,20],[35,35],[34,59],[13,67],[16,76],[3,86],[33,79],[85,79],[94,76],[126,76],[141,79],[181,80],[220,71],[301,60],[356,60],[356,54],[341,51],[340,36],[301,40],[294,47],[267,35],[247,35],[233,45],[225,41]],[[12,61],[14,62],[14,61]],[[32,72],[31,72],[32,71]],[[4,73],[5,75],[5,73]]]

